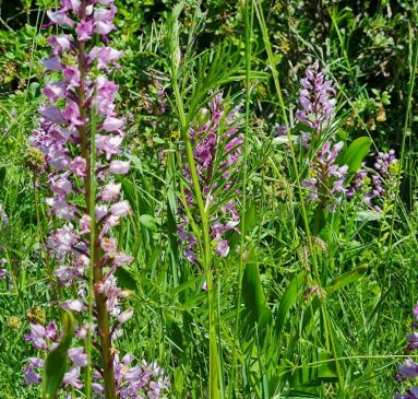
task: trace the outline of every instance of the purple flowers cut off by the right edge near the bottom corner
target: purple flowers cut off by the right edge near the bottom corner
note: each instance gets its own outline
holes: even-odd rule
[[[418,305],[414,306],[414,316],[418,320]],[[408,351],[415,351],[418,349],[418,332],[415,329],[418,327],[417,322],[411,324],[411,333],[406,336],[408,344],[406,349]],[[395,379],[398,382],[405,379],[414,379],[418,377],[418,363],[411,359],[407,359],[404,364],[397,367],[397,374]],[[418,399],[418,387],[410,388],[406,394],[395,394],[394,399]]]

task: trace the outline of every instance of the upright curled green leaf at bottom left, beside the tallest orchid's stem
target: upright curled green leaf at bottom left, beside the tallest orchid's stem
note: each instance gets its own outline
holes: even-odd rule
[[[59,345],[49,353],[44,366],[44,399],[56,399],[67,372],[67,351],[74,335],[74,317],[70,312],[62,314],[63,333]]]

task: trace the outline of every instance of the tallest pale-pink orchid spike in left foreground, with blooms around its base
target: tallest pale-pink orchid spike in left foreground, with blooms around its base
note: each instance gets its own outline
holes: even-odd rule
[[[99,361],[94,357],[92,364],[96,397],[163,398],[169,387],[164,371],[145,362],[131,366],[133,356],[119,360],[114,345],[121,325],[133,314],[132,309],[123,310],[129,293],[118,286],[115,277],[118,268],[133,261],[120,251],[112,235],[112,227],[130,213],[117,181],[117,175],[130,168],[129,162],[119,159],[126,121],[116,113],[118,85],[106,75],[120,68],[117,61],[122,56],[108,46],[116,11],[114,0],[62,0],[59,10],[48,11],[46,26],[58,25],[67,33],[48,38],[52,56],[44,66],[52,79],[43,90],[47,104],[40,107],[39,129],[31,143],[45,155],[51,192],[46,202],[59,224],[47,240],[51,259],[60,265],[55,275],[62,290],[70,286],[71,293],[76,293],[76,297],[62,301],[61,307],[80,313],[79,320],[84,321],[76,328],[76,338],[81,342],[91,339],[99,352]],[[59,80],[55,80],[57,75]],[[94,296],[92,312],[89,295]],[[53,350],[60,338],[53,321],[47,327],[32,324],[26,336],[34,348],[46,352]],[[81,345],[71,348],[68,355],[72,367],[62,388],[81,389],[80,372],[88,366],[87,354]],[[40,383],[35,368],[41,366],[40,357],[29,360],[27,383]]]

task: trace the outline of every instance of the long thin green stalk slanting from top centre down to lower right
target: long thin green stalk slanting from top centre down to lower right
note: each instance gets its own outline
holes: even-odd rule
[[[278,96],[278,102],[279,102],[279,105],[282,108],[283,119],[284,119],[285,126],[286,126],[288,144],[289,144],[289,150],[290,150],[290,155],[291,155],[291,163],[292,163],[292,167],[294,167],[295,175],[296,175],[296,185],[297,185],[297,189],[298,189],[300,209],[301,209],[304,231],[306,231],[307,239],[308,239],[308,248],[309,248],[309,253],[312,257],[313,274],[314,274],[314,279],[317,280],[318,286],[321,289],[321,279],[320,279],[320,274],[319,274],[319,270],[318,270],[317,255],[315,255],[315,251],[314,251],[314,248],[312,245],[312,236],[311,236],[311,232],[310,232],[310,227],[309,227],[307,209],[304,206],[304,198],[303,198],[302,186],[300,183],[300,174],[299,174],[298,163],[296,160],[295,149],[294,149],[294,144],[292,144],[291,137],[290,137],[290,125],[289,125],[289,120],[288,120],[287,113],[286,113],[286,105],[285,105],[285,101],[284,101],[283,93],[282,93],[280,82],[278,80],[278,72],[277,72],[277,69],[275,67],[272,45],[270,43],[268,32],[267,32],[267,27],[266,27],[264,15],[263,15],[263,9],[262,9],[260,0],[254,0],[254,1],[255,1],[255,12],[256,12],[256,15],[258,15],[259,21],[260,21],[263,42],[264,42],[265,49],[267,52],[268,64],[270,64],[270,68],[272,70],[274,85],[275,85],[276,93]],[[336,353],[336,347],[335,347],[333,336],[332,335],[330,336],[332,329],[331,329],[331,324],[330,324],[330,318],[329,318],[326,306],[321,306],[321,310],[322,310],[322,316],[324,318],[325,337],[326,337],[326,339],[331,345],[333,357],[334,357],[335,364],[336,364],[336,371],[337,371],[337,377],[338,377],[341,392],[344,396],[344,390],[345,390],[344,377],[343,377],[343,374],[341,371],[339,363],[337,362],[337,353]]]

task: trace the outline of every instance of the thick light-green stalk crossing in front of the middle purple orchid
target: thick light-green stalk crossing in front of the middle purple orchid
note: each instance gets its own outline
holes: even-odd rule
[[[219,398],[219,371],[218,371],[218,351],[217,351],[217,315],[215,309],[216,291],[214,290],[213,275],[211,270],[212,265],[212,249],[211,237],[208,230],[207,212],[203,202],[203,197],[199,184],[199,177],[195,168],[193,148],[189,137],[189,126],[187,115],[184,113],[184,106],[180,93],[180,89],[177,81],[177,62],[176,62],[175,49],[171,49],[171,84],[176,97],[177,109],[180,118],[181,136],[186,144],[186,156],[190,166],[190,176],[193,184],[193,190],[202,223],[202,238],[203,238],[203,251],[202,251],[202,266],[205,271],[206,284],[207,284],[207,303],[210,314],[210,386],[208,398]]]

